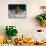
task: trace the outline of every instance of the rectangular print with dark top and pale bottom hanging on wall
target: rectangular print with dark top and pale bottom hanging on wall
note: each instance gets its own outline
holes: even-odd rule
[[[9,18],[26,18],[26,4],[8,4]]]

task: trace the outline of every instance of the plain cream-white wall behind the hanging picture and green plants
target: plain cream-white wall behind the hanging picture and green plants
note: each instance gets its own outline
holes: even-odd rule
[[[26,4],[26,19],[9,19],[8,4]],[[15,25],[19,31],[18,35],[31,35],[36,29],[42,29],[35,20],[35,16],[40,14],[40,6],[46,5],[46,0],[0,0],[0,33],[4,34],[6,25]],[[43,28],[44,29],[44,28]],[[44,29],[46,30],[46,29]]]

